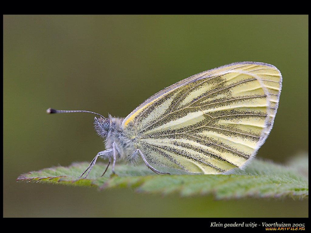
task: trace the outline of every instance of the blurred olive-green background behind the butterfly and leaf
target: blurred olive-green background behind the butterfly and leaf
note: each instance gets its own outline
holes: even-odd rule
[[[126,117],[175,82],[231,62],[276,66],[283,89],[257,157],[308,152],[308,16],[3,16],[4,217],[308,217],[308,201],[180,198],[19,182],[104,149],[91,114]]]

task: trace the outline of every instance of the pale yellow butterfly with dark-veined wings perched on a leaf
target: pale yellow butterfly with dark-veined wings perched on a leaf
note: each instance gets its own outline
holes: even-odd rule
[[[163,89],[125,118],[81,110],[49,108],[47,112],[100,116],[94,125],[105,139],[106,150],[95,156],[81,176],[86,171],[88,176],[99,157],[109,159],[108,166],[113,158],[113,173],[117,160],[136,163],[142,158],[158,174],[169,173],[152,166],[220,174],[243,168],[254,158],[272,129],[281,87],[282,76],[275,66],[236,62]]]

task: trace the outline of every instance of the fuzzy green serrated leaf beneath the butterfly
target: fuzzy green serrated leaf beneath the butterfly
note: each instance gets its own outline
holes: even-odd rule
[[[96,163],[86,179],[78,179],[88,165],[88,162],[81,162],[69,167],[45,168],[22,174],[17,180],[97,187],[100,190],[132,188],[142,193],[177,193],[183,197],[212,194],[216,199],[286,196],[304,199],[309,196],[307,156],[293,159],[288,166],[255,159],[245,170],[237,170],[231,175],[157,175],[144,164],[135,167],[118,164],[115,167],[117,175],[110,175],[108,169],[101,177],[107,165]]]

